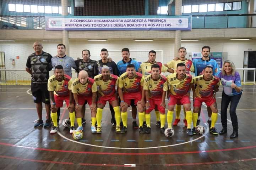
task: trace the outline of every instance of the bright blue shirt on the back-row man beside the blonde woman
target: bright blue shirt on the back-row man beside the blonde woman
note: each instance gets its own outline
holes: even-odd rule
[[[212,67],[214,76],[219,74],[219,66],[217,62],[211,58],[209,58],[209,60],[197,58],[193,60],[193,64],[195,67],[195,76],[202,75],[202,71],[205,69],[206,66]]]

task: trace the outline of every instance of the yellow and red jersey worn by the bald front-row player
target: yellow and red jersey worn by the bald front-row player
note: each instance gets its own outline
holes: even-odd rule
[[[72,93],[76,93],[78,96],[90,97],[92,92],[97,92],[97,85],[92,78],[87,78],[85,84],[81,84],[79,78],[72,82],[71,86]]]

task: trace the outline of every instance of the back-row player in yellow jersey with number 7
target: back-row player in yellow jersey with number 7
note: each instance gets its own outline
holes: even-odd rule
[[[154,50],[151,50],[151,51],[148,52],[149,60],[147,62],[141,63],[140,67],[141,67],[141,70],[142,70],[142,75],[144,77],[151,74],[151,66],[153,64],[158,64],[159,65],[159,74],[161,74],[162,72],[173,73],[173,69],[165,67],[161,62],[157,62],[156,57],[157,57],[157,52],[154,51]],[[160,128],[160,113],[157,110],[157,108],[155,109],[155,112],[156,112],[156,119],[157,119],[156,125]]]

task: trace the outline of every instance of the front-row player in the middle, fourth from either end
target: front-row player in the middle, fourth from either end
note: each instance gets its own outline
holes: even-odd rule
[[[118,94],[121,100],[121,118],[124,126],[121,128],[121,133],[127,132],[127,108],[131,104],[131,101],[134,100],[135,107],[138,107],[139,115],[142,115],[144,118],[144,97],[142,95],[143,91],[143,82],[144,77],[141,73],[135,71],[134,64],[128,64],[126,68],[126,72],[123,73],[118,82]],[[122,91],[123,89],[123,91]],[[142,122],[143,123],[143,122]],[[132,122],[133,128],[135,128],[134,124],[136,123],[136,116]],[[142,126],[142,124],[140,124]]]

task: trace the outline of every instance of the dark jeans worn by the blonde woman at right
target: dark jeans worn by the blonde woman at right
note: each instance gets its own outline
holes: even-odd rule
[[[224,93],[224,91],[222,92],[221,110],[220,110],[222,128],[227,129],[227,110],[228,110],[228,105],[230,103],[229,114],[232,121],[233,130],[238,130],[238,120],[237,120],[235,110],[241,98],[241,95],[242,93],[235,96],[228,96]]]

